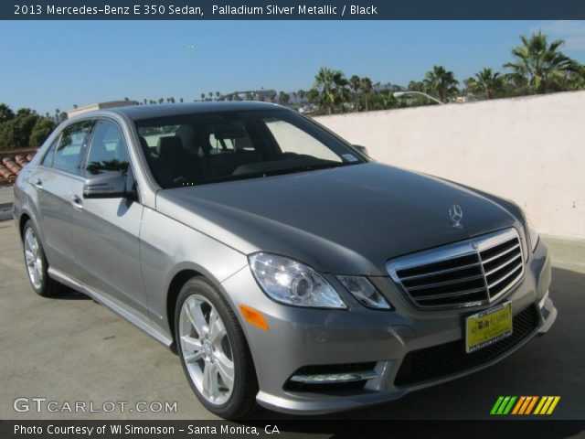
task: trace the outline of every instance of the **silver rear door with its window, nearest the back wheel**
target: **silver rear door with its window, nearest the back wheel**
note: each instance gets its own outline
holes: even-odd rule
[[[92,127],[93,121],[82,121],[65,128],[29,177],[37,192],[37,220],[48,263],[71,276],[77,267],[70,229],[71,189],[82,181],[80,159]]]

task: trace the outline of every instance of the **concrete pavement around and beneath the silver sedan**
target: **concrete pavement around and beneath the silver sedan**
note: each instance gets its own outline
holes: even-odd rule
[[[559,395],[556,419],[585,418],[585,274],[555,268],[558,321],[494,367],[343,419],[489,417],[498,395]],[[11,221],[0,222],[0,419],[213,419],[170,350],[83,294],[34,294]],[[58,412],[16,412],[16,398],[45,397]],[[30,402],[30,400],[28,400]],[[62,412],[64,402],[127,402],[128,411]],[[176,402],[176,412],[129,412],[136,402]],[[22,408],[22,406],[21,406]],[[55,406],[54,406],[55,408]],[[157,408],[157,407],[155,407]],[[261,411],[257,417],[290,416]]]

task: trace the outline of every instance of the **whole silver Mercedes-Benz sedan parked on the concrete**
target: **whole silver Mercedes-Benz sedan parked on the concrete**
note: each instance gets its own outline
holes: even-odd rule
[[[38,294],[69,285],[175,346],[224,417],[393,400],[557,316],[514,203],[375,163],[269,103],[74,117],[18,177],[15,219]]]

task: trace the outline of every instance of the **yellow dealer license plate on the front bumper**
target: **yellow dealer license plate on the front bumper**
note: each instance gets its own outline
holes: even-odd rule
[[[465,351],[475,352],[512,335],[512,302],[465,319]]]

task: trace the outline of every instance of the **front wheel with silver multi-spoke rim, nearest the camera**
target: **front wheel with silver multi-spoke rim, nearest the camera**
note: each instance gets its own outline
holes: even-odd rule
[[[195,277],[181,289],[175,334],[186,378],[209,412],[239,419],[257,408],[258,380],[250,348],[228,302],[207,280]]]

